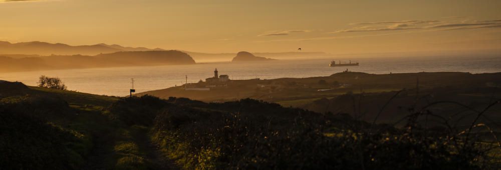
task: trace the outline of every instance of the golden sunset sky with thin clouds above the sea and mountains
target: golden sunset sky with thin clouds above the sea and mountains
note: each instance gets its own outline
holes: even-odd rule
[[[501,1],[0,0],[0,41],[194,52],[501,49]]]

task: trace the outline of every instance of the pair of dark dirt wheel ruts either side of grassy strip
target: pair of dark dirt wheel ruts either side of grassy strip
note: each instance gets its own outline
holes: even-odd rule
[[[84,122],[92,122],[86,126],[93,127],[89,129],[92,135],[93,148],[86,156],[86,162],[82,169],[114,168],[117,157],[124,155],[124,153],[117,152],[114,148],[116,142],[122,140],[137,144],[140,150],[138,155],[144,157],[146,160],[144,163],[146,163],[148,169],[180,169],[173,160],[163,154],[157,144],[152,142],[148,135],[148,127],[123,127],[131,132],[129,137],[125,137],[118,130],[122,127],[111,125],[112,123],[100,111],[80,110],[80,112],[85,116],[83,117]]]

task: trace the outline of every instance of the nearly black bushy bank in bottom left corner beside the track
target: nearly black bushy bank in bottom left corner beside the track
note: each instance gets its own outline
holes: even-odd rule
[[[0,109],[0,167],[2,169],[79,169],[84,152],[70,145],[74,134],[37,116]]]

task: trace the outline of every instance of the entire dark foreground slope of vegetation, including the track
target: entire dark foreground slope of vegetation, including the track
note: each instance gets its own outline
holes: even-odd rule
[[[204,103],[0,87],[2,169],[497,169],[501,163],[498,134],[478,118],[498,100],[467,126],[421,107],[397,128],[254,99]]]

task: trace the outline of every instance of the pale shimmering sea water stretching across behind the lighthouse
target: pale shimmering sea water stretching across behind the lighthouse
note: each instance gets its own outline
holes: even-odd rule
[[[277,60],[244,63],[201,63],[194,65],[140,66],[115,68],[90,68],[0,73],[0,80],[20,81],[35,86],[41,75],[59,77],[69,90],[79,92],[126,96],[134,78],[136,92],[164,89],[219,75],[230,79],[275,79],[329,76],[348,71],[372,74],[412,72],[501,72],[501,57],[406,57],[353,59],[360,63],[353,67],[329,67],[331,59]],[[337,63],[338,61],[336,61]],[[342,62],[349,62],[342,60]]]

